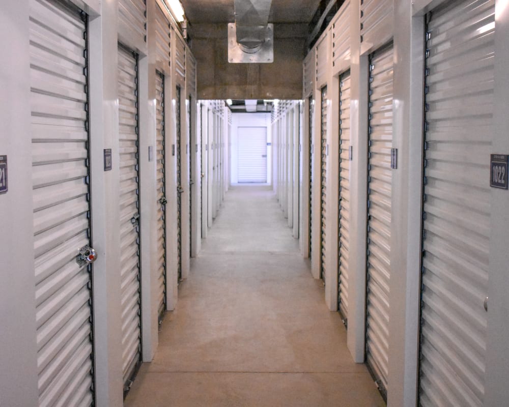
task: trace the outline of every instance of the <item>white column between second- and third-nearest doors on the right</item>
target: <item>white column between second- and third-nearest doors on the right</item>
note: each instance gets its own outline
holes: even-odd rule
[[[360,5],[351,9],[350,253],[347,345],[357,363],[364,361],[366,292],[367,92],[368,58],[360,56]]]

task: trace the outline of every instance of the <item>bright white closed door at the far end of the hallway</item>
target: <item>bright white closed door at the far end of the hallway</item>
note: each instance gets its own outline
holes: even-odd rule
[[[239,183],[267,182],[267,128],[238,128]]]

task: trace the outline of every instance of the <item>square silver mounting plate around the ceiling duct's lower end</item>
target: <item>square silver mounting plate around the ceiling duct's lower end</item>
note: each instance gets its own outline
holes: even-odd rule
[[[265,40],[258,46],[249,48],[237,42],[237,25],[234,22],[229,23],[228,62],[231,64],[269,64],[274,62],[274,25],[267,24]]]

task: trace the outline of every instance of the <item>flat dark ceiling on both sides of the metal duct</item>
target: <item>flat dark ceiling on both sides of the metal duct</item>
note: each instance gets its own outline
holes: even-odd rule
[[[234,22],[234,0],[181,0],[191,24]],[[270,23],[309,23],[319,0],[272,0]]]

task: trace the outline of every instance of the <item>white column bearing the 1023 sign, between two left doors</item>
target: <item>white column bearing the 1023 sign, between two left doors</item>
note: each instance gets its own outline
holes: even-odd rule
[[[116,1],[103,2],[89,24],[91,178],[96,402],[123,405],[119,218],[119,113]],[[103,149],[112,169],[103,171]]]

